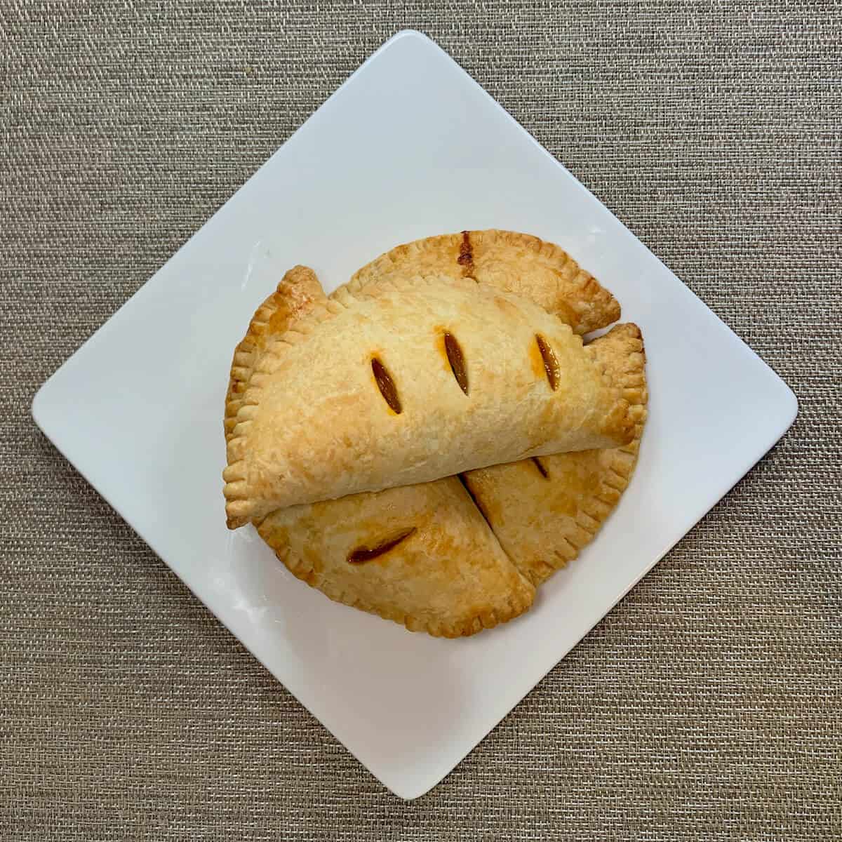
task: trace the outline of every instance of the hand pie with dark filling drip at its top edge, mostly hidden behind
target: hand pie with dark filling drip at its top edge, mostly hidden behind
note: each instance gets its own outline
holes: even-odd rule
[[[373,280],[446,274],[473,278],[535,301],[573,328],[589,333],[620,318],[608,290],[552,242],[514,231],[463,231],[427,237],[392,248],[354,273],[348,287]]]

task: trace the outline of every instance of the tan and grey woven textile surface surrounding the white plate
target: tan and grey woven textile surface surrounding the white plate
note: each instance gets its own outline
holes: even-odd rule
[[[0,837],[839,838],[838,3],[0,0],[0,21]],[[405,26],[801,402],[781,444],[412,803],[29,418],[37,386]]]

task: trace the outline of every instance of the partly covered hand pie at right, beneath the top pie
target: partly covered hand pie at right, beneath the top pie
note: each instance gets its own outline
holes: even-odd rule
[[[586,350],[618,372],[636,421],[632,442],[496,465],[463,477],[509,558],[536,585],[577,557],[614,509],[632,477],[646,421],[645,355],[637,326],[618,325]]]

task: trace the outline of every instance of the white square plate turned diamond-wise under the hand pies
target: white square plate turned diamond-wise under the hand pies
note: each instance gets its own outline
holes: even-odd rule
[[[232,349],[296,263],[328,291],[398,242],[465,228],[568,249],[643,331],[632,486],[526,616],[436,640],[298,582],[226,530]],[[780,438],[790,389],[424,35],[371,56],[41,388],[35,421],[373,775],[440,781]],[[548,751],[554,750],[552,746]]]

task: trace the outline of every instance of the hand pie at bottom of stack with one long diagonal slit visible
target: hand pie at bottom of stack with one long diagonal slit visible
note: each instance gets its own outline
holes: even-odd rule
[[[411,632],[472,635],[535,598],[456,477],[280,509],[258,533],[306,584]]]

